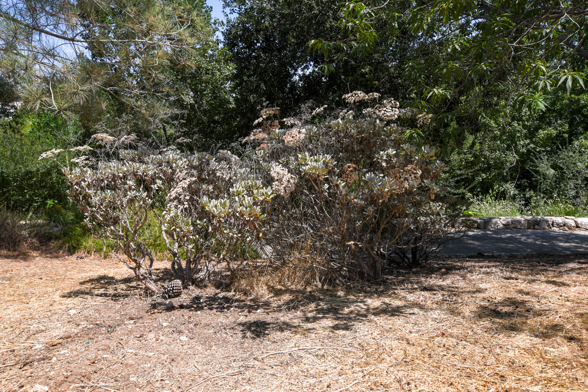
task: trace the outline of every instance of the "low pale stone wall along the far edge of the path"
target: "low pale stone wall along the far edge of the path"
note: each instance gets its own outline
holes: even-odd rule
[[[480,230],[588,230],[588,218],[574,216],[502,216],[462,218],[458,225]]]

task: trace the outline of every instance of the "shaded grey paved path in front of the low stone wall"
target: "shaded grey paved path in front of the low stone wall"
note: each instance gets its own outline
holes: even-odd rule
[[[471,230],[441,254],[588,253],[588,232]]]

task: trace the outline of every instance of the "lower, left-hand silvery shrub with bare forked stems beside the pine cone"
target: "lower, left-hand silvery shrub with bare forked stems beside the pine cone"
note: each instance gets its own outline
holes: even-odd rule
[[[95,149],[73,149],[92,150],[92,158],[71,159],[64,173],[86,224],[115,244],[121,262],[149,290],[161,293],[145,241],[147,220],[155,216],[176,279],[195,284],[222,269],[232,282],[265,232],[266,206],[274,195],[259,175],[226,150],[211,155],[141,145],[129,149],[135,139],[129,142],[126,136],[93,139]]]

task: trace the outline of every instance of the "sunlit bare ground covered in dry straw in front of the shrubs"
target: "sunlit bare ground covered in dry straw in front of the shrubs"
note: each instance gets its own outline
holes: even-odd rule
[[[173,303],[111,259],[0,257],[0,390],[588,391],[577,255],[437,260],[266,298],[209,286]]]

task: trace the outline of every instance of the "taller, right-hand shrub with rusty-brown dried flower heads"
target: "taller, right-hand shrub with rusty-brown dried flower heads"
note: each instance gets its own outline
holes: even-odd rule
[[[426,113],[377,93],[354,91],[343,100],[348,108],[330,118],[326,105],[283,120],[278,108],[265,109],[243,142],[278,195],[275,253],[287,259],[309,243],[331,277],[378,279],[394,250],[427,249],[445,234],[444,209],[435,202],[445,166],[434,148],[406,138],[410,126],[426,125]]]

